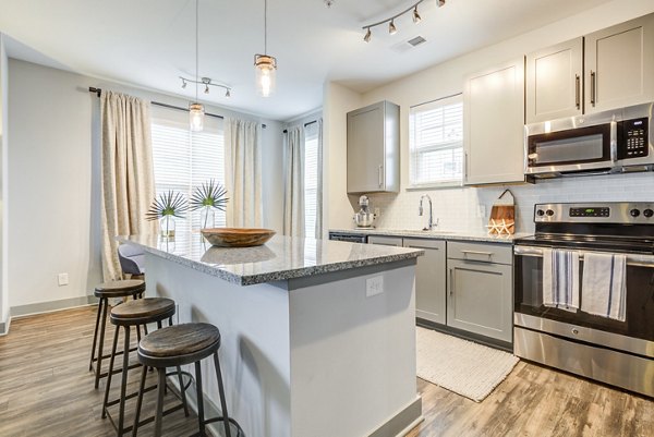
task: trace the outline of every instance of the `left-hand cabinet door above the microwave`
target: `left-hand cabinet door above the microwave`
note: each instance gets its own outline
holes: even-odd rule
[[[526,56],[526,122],[582,114],[583,38]]]

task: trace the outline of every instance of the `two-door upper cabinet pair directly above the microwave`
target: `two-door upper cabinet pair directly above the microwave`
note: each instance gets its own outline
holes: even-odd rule
[[[526,56],[526,123],[654,100],[654,14]]]

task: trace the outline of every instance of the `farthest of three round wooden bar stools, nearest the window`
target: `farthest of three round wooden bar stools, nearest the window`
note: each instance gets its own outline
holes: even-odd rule
[[[95,388],[98,388],[100,378],[107,376],[102,372],[102,359],[109,357],[109,355],[102,355],[105,347],[105,327],[107,325],[107,307],[109,306],[110,298],[129,298],[133,296],[137,299],[145,292],[145,281],[141,279],[129,279],[120,281],[102,282],[96,286],[94,295],[100,299],[98,303],[98,314],[96,317],[96,327],[93,333],[93,347],[90,348],[90,362],[88,363],[88,371],[94,371],[93,363],[96,363],[95,367]],[[101,319],[101,321],[100,321]],[[98,337],[98,327],[100,328],[100,335]],[[99,343],[99,344],[98,344]],[[96,345],[97,357],[96,357]]]

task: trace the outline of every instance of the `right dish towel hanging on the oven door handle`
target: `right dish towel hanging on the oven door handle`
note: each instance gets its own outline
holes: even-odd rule
[[[586,253],[583,257],[581,311],[625,321],[627,257]]]

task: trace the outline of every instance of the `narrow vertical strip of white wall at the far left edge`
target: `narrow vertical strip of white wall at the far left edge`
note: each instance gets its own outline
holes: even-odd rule
[[[4,50],[4,38],[0,34],[0,324],[9,318],[9,288],[7,266],[7,150],[8,150],[8,86],[9,86],[9,60]],[[2,333],[3,329],[0,329]]]

